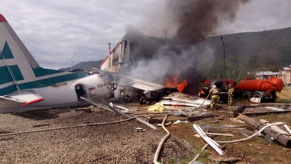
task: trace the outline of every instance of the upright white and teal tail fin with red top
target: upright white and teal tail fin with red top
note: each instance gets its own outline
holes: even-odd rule
[[[41,68],[0,14],[0,96],[81,78],[80,74]]]

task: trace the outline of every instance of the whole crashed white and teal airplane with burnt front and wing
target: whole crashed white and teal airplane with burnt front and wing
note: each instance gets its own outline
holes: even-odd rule
[[[119,102],[137,99],[140,104],[158,102],[167,96],[165,99],[171,104],[170,94],[178,91],[94,68],[91,74],[42,68],[3,15],[0,15],[0,50],[0,113],[79,106],[87,103],[84,98],[95,95]],[[191,106],[204,103],[203,99],[192,98],[194,101],[186,103]]]

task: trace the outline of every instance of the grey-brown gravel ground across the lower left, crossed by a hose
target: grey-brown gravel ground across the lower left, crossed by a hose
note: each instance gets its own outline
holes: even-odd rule
[[[0,114],[0,134],[83,122],[109,122],[120,118],[108,111],[91,113],[70,109],[41,110],[25,114]],[[35,117],[35,118],[34,118]],[[37,119],[38,118],[38,119]],[[49,124],[35,127],[33,125]],[[146,132],[137,133],[142,127]],[[1,164],[119,164],[153,163],[155,151],[166,133],[135,120],[117,124],[17,134],[0,137]],[[164,143],[159,161],[185,161],[196,154],[190,143],[171,135]]]

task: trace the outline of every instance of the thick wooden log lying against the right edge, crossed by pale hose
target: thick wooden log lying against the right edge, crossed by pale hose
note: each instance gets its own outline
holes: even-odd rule
[[[270,125],[271,123],[265,122],[266,120],[256,121],[255,119],[251,119],[245,115],[240,114],[239,119],[243,120],[245,123],[251,125],[256,129],[261,129],[266,125]],[[283,123],[282,123],[283,124]],[[282,144],[287,148],[291,148],[291,135],[286,133],[284,130],[277,126],[269,126],[262,131],[263,134],[269,135],[274,138],[277,142]]]

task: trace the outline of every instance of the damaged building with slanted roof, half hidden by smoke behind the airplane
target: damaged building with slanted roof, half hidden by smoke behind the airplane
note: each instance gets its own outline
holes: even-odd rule
[[[150,60],[159,49],[169,44],[170,39],[127,33],[100,64],[101,70],[126,74],[135,61]]]

